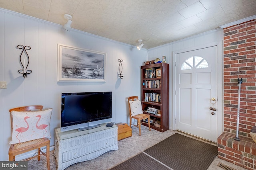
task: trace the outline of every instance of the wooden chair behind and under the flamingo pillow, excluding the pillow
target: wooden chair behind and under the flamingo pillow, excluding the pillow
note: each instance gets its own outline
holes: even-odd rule
[[[10,109],[10,113],[12,111],[35,111],[42,110],[43,106],[24,106]],[[11,125],[13,128],[12,114],[11,115]],[[41,147],[46,147],[46,153],[41,151]],[[40,160],[40,156],[44,155],[47,159],[47,168],[50,170],[50,140],[48,138],[35,139],[32,141],[26,141],[23,143],[12,144],[9,149],[9,161],[15,161],[15,156],[18,154],[22,154],[28,152],[30,150],[38,149],[38,155],[27,158],[26,160],[30,160],[32,158],[38,157]],[[24,160],[24,161],[26,161]]]

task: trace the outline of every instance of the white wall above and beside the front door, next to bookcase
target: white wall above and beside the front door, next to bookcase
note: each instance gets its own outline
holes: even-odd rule
[[[169,129],[175,129],[175,127],[173,127],[173,106],[172,106],[172,102],[173,102],[173,63],[172,63],[172,55],[173,52],[175,51],[181,51],[181,50],[186,50],[186,49],[199,49],[202,48],[203,45],[207,45],[207,44],[211,44],[214,42],[222,42],[223,40],[223,30],[222,29],[216,29],[216,30],[212,30],[200,35],[196,35],[196,36],[192,36],[186,39],[182,39],[179,41],[175,41],[172,43],[168,43],[156,48],[152,48],[152,49],[148,49],[148,61],[154,60],[156,58],[159,58],[160,60],[162,60],[162,56],[166,56],[166,63],[169,63]],[[222,53],[221,53],[222,54]],[[218,68],[222,68],[222,62],[218,63]],[[222,80],[222,78],[220,78]],[[221,82],[219,83],[221,84]],[[222,84],[221,84],[222,85]],[[222,86],[218,86],[218,90],[221,91],[222,90]],[[220,120],[221,121],[221,120]],[[220,122],[220,126],[218,127],[218,129],[220,129],[220,131],[222,131],[222,127],[221,127],[222,122]]]

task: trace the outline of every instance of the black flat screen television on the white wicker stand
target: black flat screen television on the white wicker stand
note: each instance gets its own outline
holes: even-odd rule
[[[60,131],[86,130],[111,121],[112,92],[62,93]]]

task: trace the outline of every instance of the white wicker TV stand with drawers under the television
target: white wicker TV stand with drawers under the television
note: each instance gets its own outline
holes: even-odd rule
[[[106,123],[94,129],[84,131],[71,130],[61,132],[55,129],[55,151],[57,170],[94,159],[109,150],[118,150],[118,126],[106,127]]]

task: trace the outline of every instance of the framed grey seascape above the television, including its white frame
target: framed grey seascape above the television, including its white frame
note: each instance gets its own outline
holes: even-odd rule
[[[57,82],[106,82],[106,53],[58,44]]]

